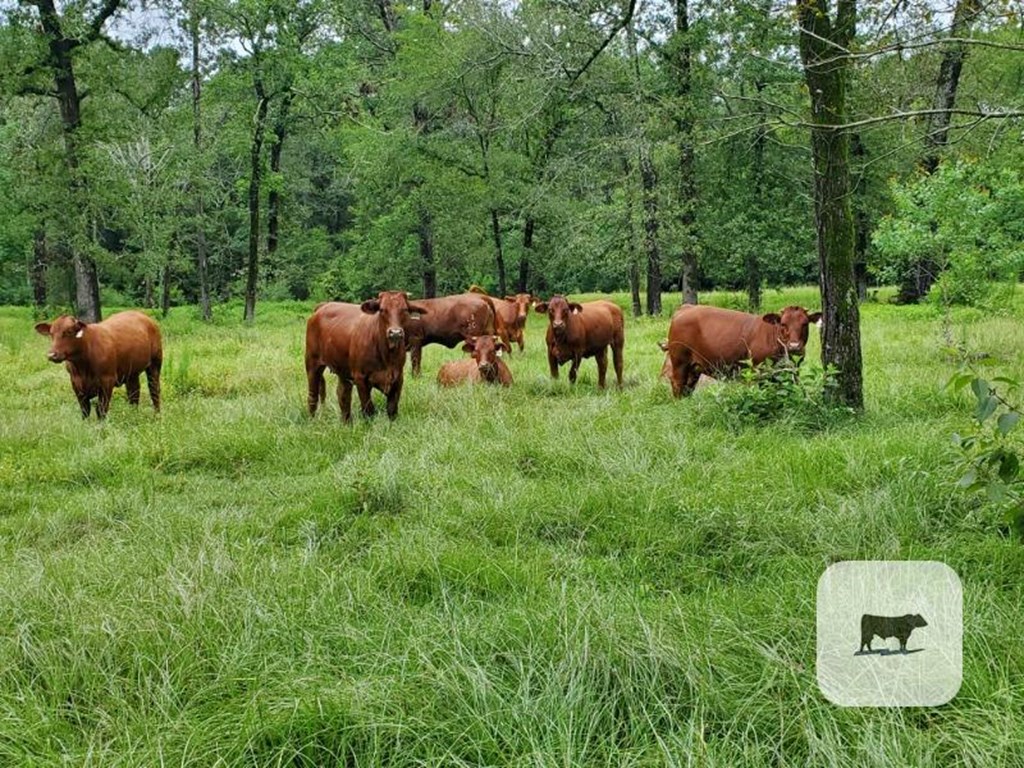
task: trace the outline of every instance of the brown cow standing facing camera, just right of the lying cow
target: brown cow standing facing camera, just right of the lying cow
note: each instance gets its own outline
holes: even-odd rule
[[[580,361],[584,357],[597,360],[597,385],[604,387],[608,370],[608,347],[615,366],[615,378],[623,386],[623,344],[626,326],[623,310],[610,301],[588,301],[586,304],[566,301],[564,296],[553,296],[534,307],[548,315],[548,367],[551,378],[558,378],[558,367],[572,361],[569,382],[574,384]]]

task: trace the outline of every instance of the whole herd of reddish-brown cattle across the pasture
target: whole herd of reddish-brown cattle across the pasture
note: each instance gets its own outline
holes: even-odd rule
[[[398,413],[407,351],[413,374],[419,375],[423,347],[462,344],[469,357],[445,362],[437,374],[442,386],[463,382],[512,384],[512,373],[502,352],[515,342],[524,347],[523,330],[529,310],[548,315],[548,366],[552,378],[570,362],[569,381],[575,383],[585,357],[597,362],[598,385],[604,387],[608,350],[618,387],[623,386],[623,310],[610,301],[577,303],[564,296],[541,301],[530,294],[504,299],[486,295],[475,286],[468,293],[436,299],[410,300],[400,291],[383,291],[361,304],[331,301],[321,304],[306,322],[305,366],[307,404],[314,415],[327,396],[325,372],[338,376],[338,404],[349,421],[352,387],[364,415],[374,414],[371,391],[387,398],[387,415]],[[811,323],[820,312],[788,306],[780,312],[756,315],[705,305],[685,305],[672,317],[663,374],[679,397],[693,391],[701,374],[721,375],[742,360],[803,354]],[[160,410],[160,369],[163,347],[160,329],[146,314],[124,311],[100,323],[85,324],[61,315],[40,323],[36,331],[50,337],[47,358],[63,362],[72,388],[88,418],[96,399],[96,416],[105,417],[114,388],[125,385],[128,401],[138,404],[139,379],[146,375],[153,407]]]

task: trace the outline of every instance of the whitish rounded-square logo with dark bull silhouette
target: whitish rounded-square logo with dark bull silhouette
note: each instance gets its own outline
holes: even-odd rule
[[[818,580],[818,687],[841,707],[937,707],[959,690],[964,590],[945,563],[850,560]]]

